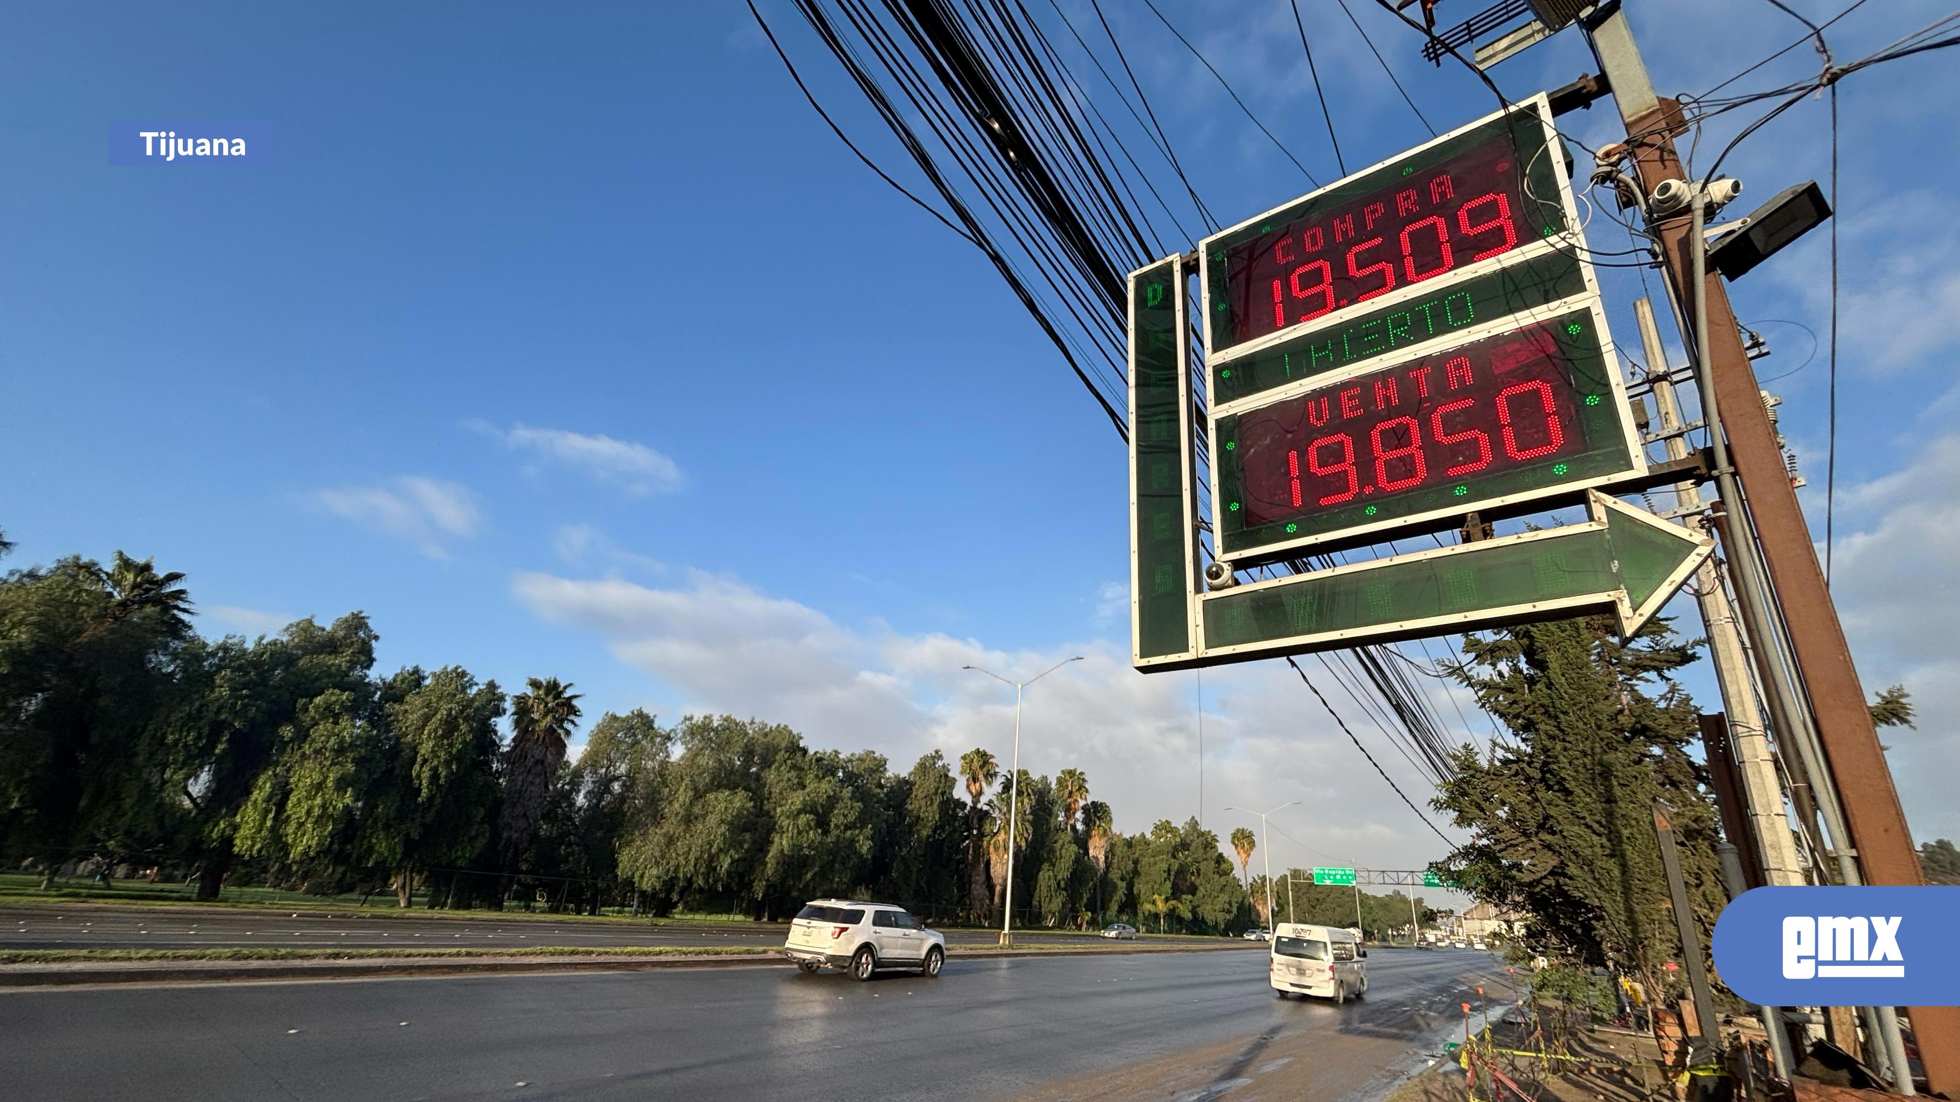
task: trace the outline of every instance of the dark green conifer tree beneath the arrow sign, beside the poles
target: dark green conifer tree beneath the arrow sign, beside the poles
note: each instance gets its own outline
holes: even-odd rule
[[[1488,759],[1462,747],[1435,798],[1470,831],[1445,863],[1452,882],[1529,912],[1546,949],[1650,984],[1680,953],[1656,800],[1670,808],[1703,931],[1725,900],[1715,810],[1688,755],[1695,708],[1668,678],[1693,661],[1691,647],[1664,620],[1621,643],[1597,616],[1468,635],[1468,661],[1452,673],[1517,743]]]

